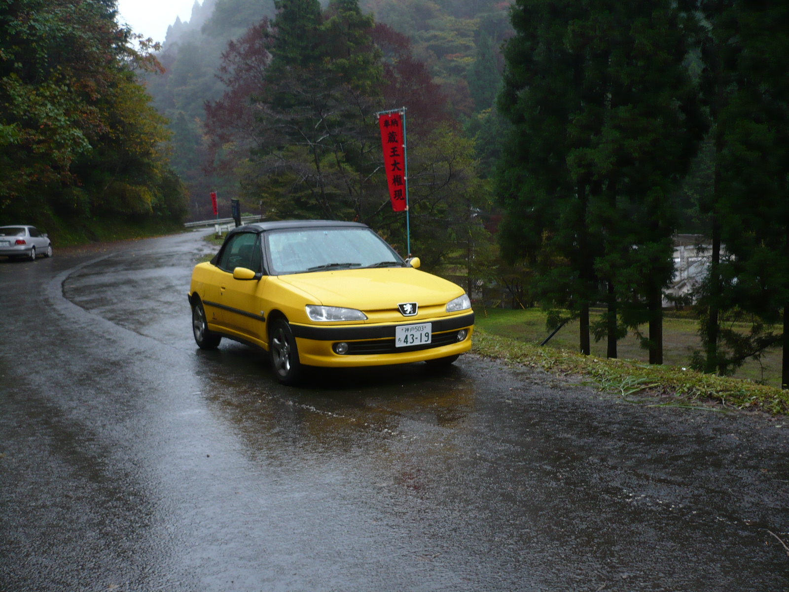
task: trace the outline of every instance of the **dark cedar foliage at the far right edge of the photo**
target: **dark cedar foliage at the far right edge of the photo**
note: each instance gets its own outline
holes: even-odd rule
[[[696,363],[728,373],[779,344],[789,386],[789,10],[734,0],[701,9],[708,23],[701,88],[715,126],[712,191],[700,201],[713,260],[701,290],[705,350]],[[750,332],[732,334],[727,324],[741,317],[750,319]],[[782,317],[783,335],[774,335]]]

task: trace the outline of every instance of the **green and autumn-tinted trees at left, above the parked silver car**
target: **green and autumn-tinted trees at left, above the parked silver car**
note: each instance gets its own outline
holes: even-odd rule
[[[136,82],[157,64],[114,2],[2,2],[0,15],[0,218],[183,215],[163,119]]]

